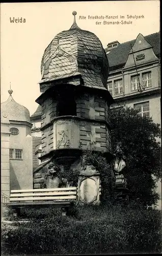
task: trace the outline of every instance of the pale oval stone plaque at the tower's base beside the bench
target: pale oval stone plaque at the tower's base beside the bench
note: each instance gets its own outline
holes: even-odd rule
[[[84,203],[93,202],[98,194],[98,187],[94,179],[86,178],[80,183],[80,200]]]

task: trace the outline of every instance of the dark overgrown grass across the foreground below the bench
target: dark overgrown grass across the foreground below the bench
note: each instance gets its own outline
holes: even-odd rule
[[[28,223],[2,223],[2,254],[161,252],[160,211],[133,209],[130,205],[81,206],[78,218],[50,211],[46,218],[30,219]]]

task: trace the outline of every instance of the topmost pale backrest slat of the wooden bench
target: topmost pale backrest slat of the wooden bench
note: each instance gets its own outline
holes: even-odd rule
[[[76,187],[16,189],[16,190],[11,190],[11,193],[33,193],[33,192],[66,191],[66,190],[67,191],[76,190]]]

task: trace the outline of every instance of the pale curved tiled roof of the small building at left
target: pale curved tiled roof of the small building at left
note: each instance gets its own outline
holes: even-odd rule
[[[1,111],[7,112],[9,120],[31,123],[29,110],[18,104],[11,95],[1,103]]]

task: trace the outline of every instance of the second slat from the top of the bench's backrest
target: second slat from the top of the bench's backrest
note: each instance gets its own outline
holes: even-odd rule
[[[10,195],[10,198],[12,197],[38,197],[38,196],[41,196],[41,197],[45,197],[45,196],[70,196],[70,195],[76,195],[76,191],[61,191],[61,192],[47,192],[47,193],[22,193],[22,194],[11,194]]]

